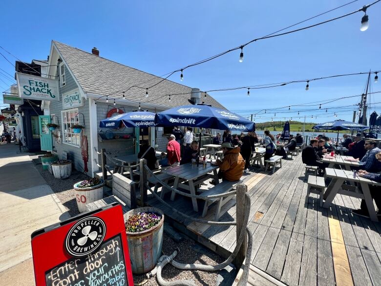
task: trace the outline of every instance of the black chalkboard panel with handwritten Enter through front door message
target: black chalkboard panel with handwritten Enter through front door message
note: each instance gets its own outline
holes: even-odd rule
[[[46,271],[47,286],[128,286],[120,235],[83,258],[72,258]]]

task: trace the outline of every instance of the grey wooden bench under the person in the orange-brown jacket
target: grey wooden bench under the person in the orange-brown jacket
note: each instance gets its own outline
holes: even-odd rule
[[[229,197],[221,197],[221,198],[207,198],[212,195],[219,195],[226,192],[231,191],[240,181],[222,181],[221,183],[215,185],[211,189],[202,192],[200,196],[205,197],[205,205],[204,210],[202,211],[202,217],[204,218],[207,215],[209,206],[218,200],[217,209],[215,211],[214,220],[218,221],[220,216],[221,207],[226,204],[229,200],[231,200],[235,195]]]

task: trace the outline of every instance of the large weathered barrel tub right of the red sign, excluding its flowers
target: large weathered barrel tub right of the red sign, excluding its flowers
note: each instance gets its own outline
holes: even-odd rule
[[[132,273],[134,274],[143,274],[151,271],[156,266],[163,247],[164,213],[160,209],[143,207],[131,210],[124,215],[125,221],[132,215],[143,212],[155,213],[161,217],[161,220],[151,229],[141,232],[126,232],[129,258]]]

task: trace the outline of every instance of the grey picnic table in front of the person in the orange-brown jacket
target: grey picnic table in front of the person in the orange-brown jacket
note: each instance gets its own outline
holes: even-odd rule
[[[207,166],[205,168],[202,163],[200,163],[198,166],[197,163],[187,163],[184,165],[179,165],[173,168],[162,170],[161,172],[175,177],[173,188],[178,189],[178,187],[181,187],[183,189],[189,190],[192,195],[195,195],[196,186],[199,183],[204,182],[206,179],[213,177],[214,181],[218,183],[217,169],[218,166],[212,165],[209,162],[207,163]],[[208,174],[210,172],[213,172],[213,175]],[[185,184],[184,180],[187,180],[188,184]],[[175,194],[175,192],[172,192],[170,196],[171,200],[174,200]],[[198,212],[196,198],[192,198],[192,205],[193,210],[195,212]]]

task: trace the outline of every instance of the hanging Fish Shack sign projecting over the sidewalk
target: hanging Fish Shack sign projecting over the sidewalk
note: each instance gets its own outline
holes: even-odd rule
[[[21,98],[60,101],[57,80],[18,72],[17,85]]]

